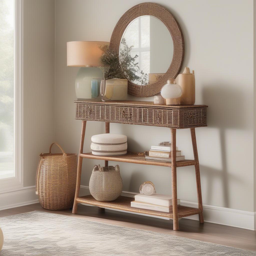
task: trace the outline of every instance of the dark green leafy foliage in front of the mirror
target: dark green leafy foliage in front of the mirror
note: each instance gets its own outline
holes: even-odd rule
[[[131,82],[136,81],[136,83],[142,85],[148,84],[147,74],[142,70],[140,71],[138,62],[136,62],[138,55],[135,55],[134,57],[131,56],[133,46],[129,47],[126,44],[125,38],[122,39],[121,45],[122,49],[120,49],[120,56],[119,53],[114,52],[108,46],[100,46],[100,49],[103,52],[101,62],[104,66],[101,67],[101,70],[104,74],[104,78],[128,79]]]

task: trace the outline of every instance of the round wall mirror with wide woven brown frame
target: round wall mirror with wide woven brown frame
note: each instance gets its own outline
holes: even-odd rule
[[[158,94],[175,79],[184,59],[184,38],[175,17],[163,6],[141,3],[127,10],[110,38],[113,56],[128,79],[128,93]]]

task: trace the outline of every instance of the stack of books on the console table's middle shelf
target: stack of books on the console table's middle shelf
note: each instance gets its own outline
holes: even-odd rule
[[[151,146],[151,150],[145,158],[147,161],[172,162],[172,144],[170,142],[160,142],[158,146]],[[182,160],[185,160],[185,156],[182,156],[181,151],[176,147],[176,161]]]

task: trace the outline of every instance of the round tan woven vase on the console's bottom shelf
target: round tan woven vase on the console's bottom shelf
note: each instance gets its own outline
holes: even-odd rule
[[[119,165],[100,167],[95,165],[89,182],[91,195],[98,201],[113,201],[123,191]]]

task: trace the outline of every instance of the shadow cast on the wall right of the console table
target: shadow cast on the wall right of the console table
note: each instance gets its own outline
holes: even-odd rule
[[[207,109],[207,125],[212,128],[219,129],[220,138],[220,156],[221,169],[210,168],[200,165],[201,176],[206,177],[208,181],[208,191],[205,193],[207,202],[211,201],[214,195],[213,181],[219,178],[222,181],[223,204],[229,208],[229,183],[241,180],[228,173],[227,171],[227,154],[226,154],[226,132],[227,130],[244,130],[246,129],[246,109],[244,103],[247,97],[243,90],[238,90],[236,86],[228,86],[227,84],[220,85],[216,81],[216,85],[204,84],[202,86],[202,104],[209,106]],[[239,105],[238,105],[239,102]],[[238,111],[239,110],[239,111]],[[232,159],[236,161],[236,159]],[[218,193],[220,191],[217,191]]]

